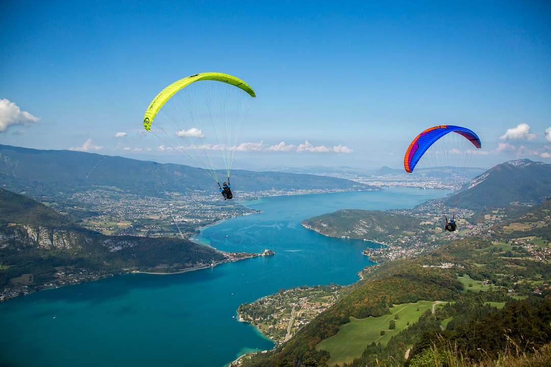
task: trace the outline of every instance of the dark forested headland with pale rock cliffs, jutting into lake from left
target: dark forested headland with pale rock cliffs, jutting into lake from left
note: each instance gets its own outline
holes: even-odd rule
[[[55,280],[56,267],[97,275],[129,270],[170,272],[221,261],[213,248],[178,238],[110,237],[68,221],[55,210],[0,189],[0,287],[30,275],[29,287]]]

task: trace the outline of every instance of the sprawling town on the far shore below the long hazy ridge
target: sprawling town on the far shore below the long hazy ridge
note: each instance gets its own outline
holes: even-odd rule
[[[345,189],[265,190],[253,193],[235,191],[240,202],[267,196],[304,195],[345,192]],[[183,196],[166,193],[165,198],[121,193],[120,190],[96,189],[73,194],[71,202],[78,202],[71,210],[91,213],[80,224],[106,235],[137,235],[145,237],[191,238],[201,227],[229,218],[258,212],[234,201],[224,201],[219,193],[197,191]],[[50,204],[50,203],[48,203]],[[51,205],[51,204],[50,204]],[[67,209],[53,206],[62,213]]]

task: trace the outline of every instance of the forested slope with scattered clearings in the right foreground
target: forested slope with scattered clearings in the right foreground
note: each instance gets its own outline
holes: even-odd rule
[[[393,304],[417,300],[455,302],[404,329],[388,344],[366,344],[352,366],[423,364],[434,342],[450,341],[456,350],[440,352],[453,358],[484,360],[520,346],[534,352],[551,341],[551,200],[533,207],[517,220],[501,223],[489,235],[455,240],[417,258],[385,262],[364,270],[364,280],[345,287],[339,301],[304,326],[274,352],[256,354],[244,366],[323,365],[329,359],[316,345],[336,335],[354,316],[363,319],[388,313]],[[528,299],[518,302],[517,299]],[[491,303],[505,304],[503,310]],[[450,321],[451,318],[451,321]],[[451,326],[441,331],[442,320]],[[436,330],[436,331],[433,331]],[[481,332],[482,331],[482,332]],[[468,335],[476,334],[473,339]],[[443,338],[443,339],[442,339]],[[486,353],[477,346],[482,345]],[[454,357],[455,356],[455,357]],[[444,358],[444,357],[442,357]]]

